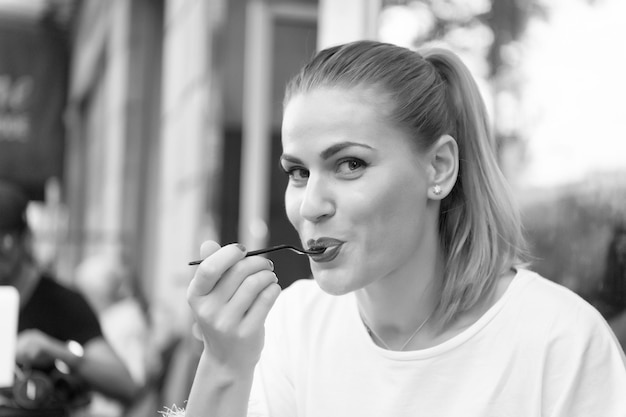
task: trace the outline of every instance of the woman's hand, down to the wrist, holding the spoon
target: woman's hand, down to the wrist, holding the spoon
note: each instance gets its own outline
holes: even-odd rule
[[[272,261],[245,257],[240,245],[202,244],[204,261],[189,284],[187,300],[202,334],[204,353],[235,373],[250,373],[259,360],[264,323],[280,286]]]

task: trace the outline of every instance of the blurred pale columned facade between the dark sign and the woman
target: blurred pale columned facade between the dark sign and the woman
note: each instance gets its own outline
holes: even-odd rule
[[[121,251],[159,331],[187,337],[187,263],[203,240],[296,243],[276,163],[284,85],[318,45],[374,37],[378,5],[76,3],[60,275],[71,280],[85,257]],[[331,19],[339,9],[354,19]],[[303,258],[277,254],[275,263],[284,286],[309,274]],[[187,382],[193,366],[182,361],[172,378]]]

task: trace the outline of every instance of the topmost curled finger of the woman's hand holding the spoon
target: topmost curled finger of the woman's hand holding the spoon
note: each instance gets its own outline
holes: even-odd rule
[[[215,245],[211,242],[205,242],[201,247],[201,251],[210,253],[215,249]],[[219,246],[219,245],[218,245]],[[191,300],[195,297],[207,295],[215,287],[215,284],[224,275],[224,273],[233,266],[237,261],[243,259],[245,248],[238,245],[227,245],[218,248],[196,269],[193,279],[189,283],[187,289],[187,299]]]

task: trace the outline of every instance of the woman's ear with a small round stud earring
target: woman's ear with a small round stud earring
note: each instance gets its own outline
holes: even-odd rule
[[[432,200],[444,199],[456,184],[459,173],[459,146],[450,135],[442,135],[429,152],[428,197]]]

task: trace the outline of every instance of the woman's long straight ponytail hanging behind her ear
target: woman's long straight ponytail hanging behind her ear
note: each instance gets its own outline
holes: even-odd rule
[[[484,101],[467,67],[452,52],[423,54],[442,78],[459,147],[459,174],[439,217],[446,256],[439,310],[445,323],[489,294],[525,252],[521,220],[495,154]]]

